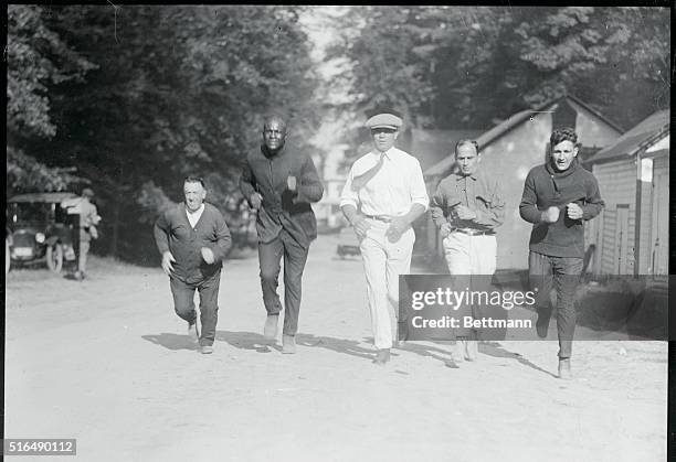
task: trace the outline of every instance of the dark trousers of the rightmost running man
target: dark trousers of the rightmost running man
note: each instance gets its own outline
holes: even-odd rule
[[[538,323],[549,324],[552,311],[550,292],[552,287],[556,290],[559,358],[569,358],[575,332],[575,288],[582,273],[582,258],[551,257],[531,251],[528,269],[531,288],[537,291]]]

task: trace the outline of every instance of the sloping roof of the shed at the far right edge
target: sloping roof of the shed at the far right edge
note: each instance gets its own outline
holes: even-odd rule
[[[669,131],[669,110],[658,110],[636,127],[587,160],[588,163],[605,162],[623,155],[634,155],[641,149],[658,141]]]

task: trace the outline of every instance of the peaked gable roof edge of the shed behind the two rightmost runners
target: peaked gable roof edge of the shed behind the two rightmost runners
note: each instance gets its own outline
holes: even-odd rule
[[[530,118],[530,116],[532,116],[534,112],[545,111],[548,107],[554,105],[556,103],[560,101],[561,99],[567,99],[567,98],[571,99],[575,104],[582,106],[584,109],[587,109],[588,111],[592,112],[594,116],[596,116],[599,119],[603,120],[605,123],[608,123],[609,126],[611,126],[612,128],[614,128],[619,132],[622,133],[624,131],[622,129],[622,127],[620,127],[617,123],[615,123],[612,120],[608,119],[605,116],[600,114],[598,110],[589,107],[587,104],[582,103],[575,96],[573,96],[573,95],[566,95],[566,96],[561,96],[561,97],[556,98],[556,99],[551,99],[551,100],[549,100],[549,101],[547,101],[545,104],[541,104],[538,107],[535,107],[535,108],[531,108],[531,109],[525,109],[525,110],[521,110],[519,112],[513,114],[511,116],[509,116],[507,118],[507,120],[504,120],[500,123],[498,123],[495,127],[493,127],[492,129],[489,129],[488,131],[485,131],[484,133],[482,133],[482,136],[479,136],[476,139],[476,142],[478,143],[479,149],[483,150],[488,144],[490,144],[493,141],[495,141],[498,138],[503,137],[505,133],[510,131],[516,126],[518,126],[518,125],[525,122],[526,120],[528,120]],[[429,169],[426,169],[426,170],[423,169],[424,175],[425,176],[443,175],[443,174],[445,174],[453,166],[453,163],[454,163],[454,159],[453,158],[443,159],[439,163],[430,166]]]

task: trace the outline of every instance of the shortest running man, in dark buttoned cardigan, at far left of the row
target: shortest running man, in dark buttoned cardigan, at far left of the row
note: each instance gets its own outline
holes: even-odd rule
[[[186,201],[166,211],[155,223],[155,241],[169,276],[176,313],[188,322],[188,334],[203,354],[213,352],[218,321],[222,260],[232,245],[221,212],[204,203],[204,182],[188,176]],[[194,291],[200,292],[201,335],[197,332]]]

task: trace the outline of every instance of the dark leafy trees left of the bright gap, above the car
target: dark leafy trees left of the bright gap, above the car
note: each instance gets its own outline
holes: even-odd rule
[[[10,11],[8,149],[50,174],[76,166],[97,193],[115,255],[142,247],[155,259],[148,223],[181,200],[187,174],[207,179],[218,206],[236,196],[239,164],[257,146],[265,112],[285,114],[299,149],[309,149],[317,77],[298,26],[303,7]],[[19,179],[8,193],[68,186]],[[67,180],[73,187],[76,178]]]

